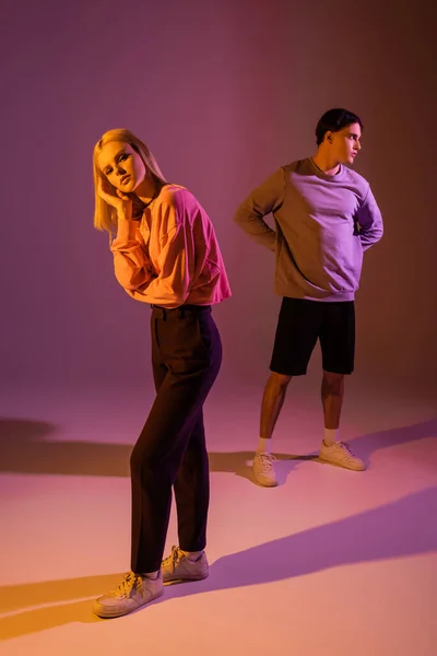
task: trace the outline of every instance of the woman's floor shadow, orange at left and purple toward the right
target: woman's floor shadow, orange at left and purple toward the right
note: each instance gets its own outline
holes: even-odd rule
[[[274,583],[331,567],[432,553],[437,550],[437,524],[430,520],[436,515],[437,487],[433,487],[352,517],[220,558],[212,564],[206,581],[167,586],[164,597],[154,604]],[[0,636],[13,639],[70,622],[107,621],[93,616],[91,599],[116,587],[120,576],[0,587]],[[138,612],[146,613],[147,609]]]

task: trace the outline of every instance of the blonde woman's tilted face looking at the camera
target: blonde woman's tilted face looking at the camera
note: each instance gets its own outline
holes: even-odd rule
[[[123,194],[133,192],[144,180],[144,162],[129,143],[109,141],[102,147],[98,166],[108,181]]]

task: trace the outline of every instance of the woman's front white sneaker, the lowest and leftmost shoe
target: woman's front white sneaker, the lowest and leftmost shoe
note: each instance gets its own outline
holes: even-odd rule
[[[119,618],[140,606],[157,599],[164,593],[161,572],[156,578],[128,572],[120,585],[94,602],[94,612],[99,618]]]

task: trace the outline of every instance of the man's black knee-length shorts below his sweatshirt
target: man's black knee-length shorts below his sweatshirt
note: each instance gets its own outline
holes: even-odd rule
[[[303,376],[317,339],[323,370],[352,374],[355,355],[355,304],[283,298],[270,370],[286,376]]]

